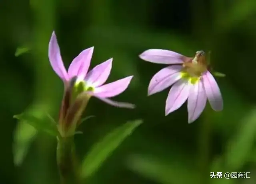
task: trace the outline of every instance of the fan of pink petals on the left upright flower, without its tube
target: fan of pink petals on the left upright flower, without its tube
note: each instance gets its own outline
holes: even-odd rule
[[[62,57],[60,54],[60,48],[57,42],[55,33],[52,33],[52,37],[49,43],[49,60],[52,69],[63,80],[65,86],[75,77],[76,82],[84,82],[85,91],[88,94],[95,96],[96,98],[117,107],[122,108],[134,108],[133,104],[124,102],[115,102],[109,98],[117,96],[126,90],[133,76],[122,78],[115,82],[103,85],[112,69],[112,59],[109,59],[100,65],[97,65],[88,72],[90,62],[92,59],[94,47],[83,50],[70,64],[68,71],[66,71]]]

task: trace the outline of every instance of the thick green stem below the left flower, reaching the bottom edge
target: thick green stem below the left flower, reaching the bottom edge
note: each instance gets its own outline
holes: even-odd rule
[[[57,164],[60,184],[79,183],[76,172],[74,137],[58,138]]]

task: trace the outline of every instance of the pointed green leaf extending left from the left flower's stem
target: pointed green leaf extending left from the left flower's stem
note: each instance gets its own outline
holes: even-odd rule
[[[28,113],[22,113],[19,115],[14,115],[13,117],[30,124],[38,131],[44,131],[46,133],[49,133],[50,135],[59,136],[56,124],[52,122],[52,119],[49,120],[48,116],[46,116],[47,118],[38,118]]]

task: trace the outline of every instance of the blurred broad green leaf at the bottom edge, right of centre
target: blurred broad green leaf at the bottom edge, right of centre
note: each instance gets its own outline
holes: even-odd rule
[[[132,155],[127,165],[132,171],[161,184],[194,184],[200,181],[198,171],[182,164],[178,157],[170,162],[159,157]]]

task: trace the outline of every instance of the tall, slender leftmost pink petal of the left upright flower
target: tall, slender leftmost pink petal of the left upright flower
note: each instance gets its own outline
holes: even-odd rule
[[[52,69],[62,80],[67,81],[69,79],[68,74],[60,55],[60,47],[58,45],[57,37],[54,31],[52,32],[52,37],[49,42],[48,57]]]

